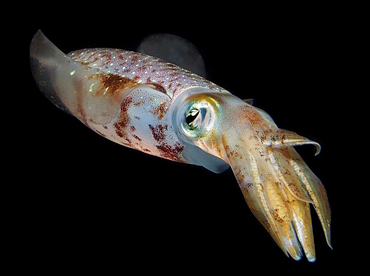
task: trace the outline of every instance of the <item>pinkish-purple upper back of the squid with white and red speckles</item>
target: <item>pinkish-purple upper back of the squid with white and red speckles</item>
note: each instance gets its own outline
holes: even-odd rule
[[[218,85],[174,64],[144,54],[119,49],[83,49],[68,54],[86,66],[117,74],[139,84],[157,84],[170,98],[185,89],[202,87],[226,92]]]

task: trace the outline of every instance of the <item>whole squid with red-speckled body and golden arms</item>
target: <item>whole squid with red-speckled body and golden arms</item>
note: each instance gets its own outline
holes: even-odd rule
[[[147,154],[221,173],[231,167],[246,203],[295,260],[315,261],[310,205],[331,247],[327,194],[294,146],[320,145],[280,129],[251,101],[139,52],[64,54],[38,31],[30,64],[41,92],[101,136]]]

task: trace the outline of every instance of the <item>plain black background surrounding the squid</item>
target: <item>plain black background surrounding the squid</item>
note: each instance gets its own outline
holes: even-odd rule
[[[19,47],[12,54],[17,73],[7,74],[15,97],[4,108],[6,123],[14,127],[4,136],[17,144],[5,157],[14,169],[7,213],[15,212],[9,251],[19,260],[15,268],[176,275],[357,267],[360,261],[350,257],[353,239],[360,237],[350,232],[354,219],[345,198],[351,190],[344,188],[349,183],[341,155],[349,112],[343,108],[348,91],[342,75],[348,14],[322,6],[199,5],[32,5],[23,23],[4,25],[17,38],[4,46],[9,52]],[[317,261],[287,258],[249,211],[231,170],[213,174],[124,148],[55,108],[39,93],[28,64],[38,29],[66,53],[88,47],[135,50],[153,33],[194,43],[211,81],[254,98],[280,128],[321,144],[316,157],[313,147],[298,151],[327,189],[334,250],[312,210]]]

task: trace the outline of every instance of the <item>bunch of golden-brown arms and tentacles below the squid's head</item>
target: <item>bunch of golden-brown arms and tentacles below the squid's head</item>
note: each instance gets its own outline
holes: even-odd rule
[[[329,245],[330,211],[323,186],[293,145],[318,144],[273,127],[269,131],[276,134],[268,138],[245,135],[254,127],[248,123],[230,127],[223,135],[228,162],[248,206],[277,245],[295,260],[304,252],[313,262],[316,257],[309,203],[319,215]],[[266,139],[274,143],[262,143]]]

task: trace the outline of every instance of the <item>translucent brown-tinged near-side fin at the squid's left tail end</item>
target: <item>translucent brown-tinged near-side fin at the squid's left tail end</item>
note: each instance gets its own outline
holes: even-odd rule
[[[105,125],[117,114],[125,96],[137,86],[103,69],[84,65],[60,51],[40,30],[30,46],[32,74],[41,92],[57,107],[85,125]],[[108,83],[108,84],[107,84]],[[109,84],[117,89],[108,91]],[[109,91],[108,91],[109,92]]]

